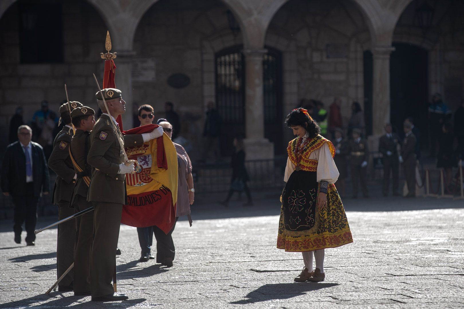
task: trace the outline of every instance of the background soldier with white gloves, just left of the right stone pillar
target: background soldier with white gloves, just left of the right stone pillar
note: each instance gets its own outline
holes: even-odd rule
[[[369,159],[369,151],[367,149],[367,141],[361,139],[361,129],[353,129],[353,139],[349,141],[348,148],[351,155],[351,178],[353,179],[353,198],[358,197],[358,183],[361,183],[362,195],[368,197],[367,194],[367,160]]]

